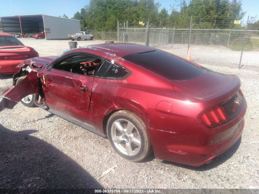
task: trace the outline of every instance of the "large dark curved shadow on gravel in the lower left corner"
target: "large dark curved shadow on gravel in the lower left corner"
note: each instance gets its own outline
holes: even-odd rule
[[[18,193],[56,189],[60,193],[64,190],[58,189],[102,188],[99,182],[67,155],[30,135],[35,132],[11,131],[0,124],[1,193],[6,189],[8,193],[13,189]]]

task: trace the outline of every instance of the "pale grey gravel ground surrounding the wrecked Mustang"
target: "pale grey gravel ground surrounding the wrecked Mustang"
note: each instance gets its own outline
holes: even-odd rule
[[[21,41],[40,56],[59,55],[68,48],[68,40]],[[101,42],[78,41],[78,46]],[[259,188],[259,72],[203,65],[238,75],[248,104],[242,139],[211,163],[191,167],[161,162],[152,154],[144,162],[129,162],[115,153],[108,139],[18,103],[0,113],[0,189]],[[0,76],[1,93],[11,87],[11,78]],[[111,167],[114,170],[98,179]]]

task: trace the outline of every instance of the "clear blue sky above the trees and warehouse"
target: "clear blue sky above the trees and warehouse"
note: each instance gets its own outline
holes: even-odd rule
[[[177,0],[175,5],[179,4],[180,0]],[[170,4],[173,4],[175,0],[154,0],[161,4],[160,10],[165,7],[167,10],[170,9]],[[189,3],[189,0],[187,0]],[[36,15],[45,14],[51,16],[63,16],[66,14],[69,18],[74,16],[77,11],[80,12],[81,8],[89,3],[89,0],[44,0],[44,1],[14,1],[9,0],[5,3],[1,3],[0,6],[0,17],[3,16],[14,16],[14,15]],[[247,16],[256,16],[259,19],[259,0],[242,0],[242,9],[246,12],[244,20]]]

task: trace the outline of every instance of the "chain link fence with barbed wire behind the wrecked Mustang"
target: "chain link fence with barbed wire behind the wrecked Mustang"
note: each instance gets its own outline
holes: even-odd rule
[[[190,48],[191,60],[201,65],[259,70],[257,30],[192,29],[193,25],[189,29],[152,29],[147,25],[128,26],[125,22],[120,26],[117,22],[117,42],[147,45],[183,58]]]

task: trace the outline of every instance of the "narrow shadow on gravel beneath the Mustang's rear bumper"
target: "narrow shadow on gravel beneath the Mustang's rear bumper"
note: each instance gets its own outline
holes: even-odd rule
[[[178,166],[178,167],[190,169],[190,170],[195,170],[195,171],[210,170],[210,169],[213,169],[213,168],[223,164],[229,158],[231,158],[235,154],[235,152],[238,150],[238,147],[240,146],[241,140],[242,140],[242,136],[238,139],[238,141],[232,147],[230,147],[227,151],[225,151],[224,153],[222,153],[219,156],[217,156],[216,158],[214,158],[212,160],[212,162],[210,162],[209,164],[204,164],[202,166],[195,167],[195,166],[188,166],[188,165],[178,164],[178,163],[169,162],[169,161],[162,161],[162,163],[171,164],[171,165],[174,165],[174,166]]]

